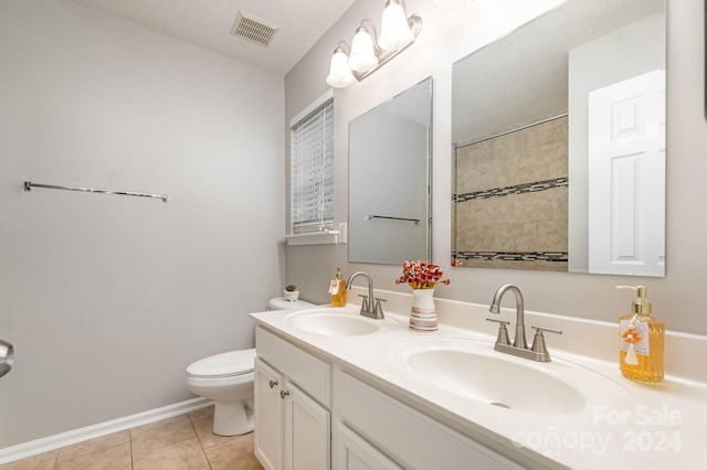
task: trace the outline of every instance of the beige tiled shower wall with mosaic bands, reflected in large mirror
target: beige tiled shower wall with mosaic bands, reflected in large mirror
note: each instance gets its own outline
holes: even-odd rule
[[[452,257],[567,270],[568,118],[455,149]]]

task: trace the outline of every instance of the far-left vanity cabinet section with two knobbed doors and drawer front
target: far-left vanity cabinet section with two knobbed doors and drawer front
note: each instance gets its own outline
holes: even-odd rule
[[[330,468],[330,365],[258,328],[255,456],[268,470]]]

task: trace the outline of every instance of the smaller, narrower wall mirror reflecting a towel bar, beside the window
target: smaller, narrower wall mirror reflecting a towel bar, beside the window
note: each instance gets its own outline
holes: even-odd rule
[[[349,122],[349,261],[430,258],[432,78]]]

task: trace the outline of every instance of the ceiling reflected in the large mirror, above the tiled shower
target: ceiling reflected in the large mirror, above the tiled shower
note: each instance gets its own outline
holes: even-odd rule
[[[567,113],[568,51],[662,11],[665,0],[572,0],[456,62],[453,140]]]

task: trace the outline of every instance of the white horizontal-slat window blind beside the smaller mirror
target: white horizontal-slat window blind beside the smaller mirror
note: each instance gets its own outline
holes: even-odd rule
[[[334,99],[292,127],[292,233],[334,228]]]

